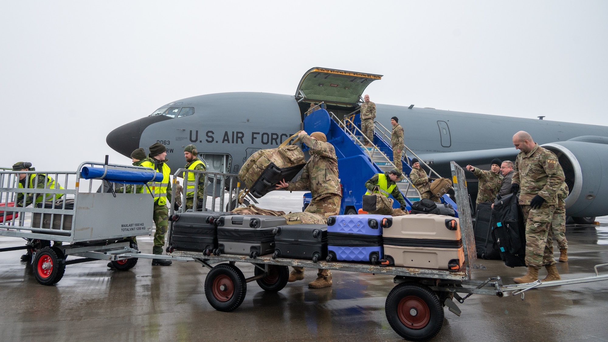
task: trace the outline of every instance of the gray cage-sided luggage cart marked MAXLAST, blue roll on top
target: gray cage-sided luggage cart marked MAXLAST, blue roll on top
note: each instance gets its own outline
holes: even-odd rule
[[[116,184],[111,184],[111,192],[93,192],[93,179],[88,181],[88,187],[81,184],[85,181],[83,167],[103,170],[102,176],[95,178],[102,181],[113,171],[150,173],[150,178],[155,175],[146,167],[108,164],[107,156],[105,163],[83,162],[71,172],[0,170],[0,202],[5,207],[15,202],[10,211],[16,214],[7,219],[9,208],[2,208],[5,211],[0,214],[0,236],[26,240],[24,246],[0,251],[27,250],[36,280],[43,285],[60,281],[66,265],[73,263],[109,260],[117,270],[129,270],[137,258],[192,260],[140,254],[125,238],[152,234],[153,198],[148,187],[141,185],[143,193],[128,194],[125,186],[123,193],[117,194]],[[28,181],[20,184],[20,174],[25,174],[26,180],[29,175],[45,177],[44,187],[30,187]],[[33,203],[26,203],[25,208],[17,206],[21,196],[32,196]],[[55,243],[51,245],[51,241]],[[67,256],[80,258],[66,260]]]

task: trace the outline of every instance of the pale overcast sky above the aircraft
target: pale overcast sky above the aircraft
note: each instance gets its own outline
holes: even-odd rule
[[[608,125],[606,1],[2,1],[3,164],[130,163],[114,128],[184,97],[295,94],[315,66],[371,100]],[[474,134],[472,134],[474,135]],[[473,139],[473,138],[472,138]]]

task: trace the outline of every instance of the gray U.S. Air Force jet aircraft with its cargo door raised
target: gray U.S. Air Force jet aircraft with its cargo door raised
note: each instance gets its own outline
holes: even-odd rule
[[[108,145],[125,156],[154,142],[167,146],[169,166],[184,166],[185,145],[195,144],[207,170],[238,173],[261,148],[277,147],[299,131],[311,103],[324,102],[342,117],[356,113],[365,88],[382,75],[336,69],[307,71],[295,95],[224,92],[188,97],[161,106],[152,114],[111,131]],[[492,158],[513,161],[519,150],[511,138],[528,131],[534,141],[559,157],[570,195],[567,214],[577,223],[608,215],[608,127],[539,119],[463,113],[376,103],[376,121],[390,127],[399,117],[405,144],[443,176],[449,162],[489,169]],[[604,167],[606,166],[606,167]],[[607,169],[608,170],[608,169]],[[472,176],[469,190],[477,192]]]

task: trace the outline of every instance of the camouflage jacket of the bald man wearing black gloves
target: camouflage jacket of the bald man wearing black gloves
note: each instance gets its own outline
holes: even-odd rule
[[[565,176],[558,158],[553,152],[538,144],[530,153],[519,152],[513,169],[513,184],[519,184],[519,204],[530,204],[539,195],[547,204],[558,203],[558,190]]]

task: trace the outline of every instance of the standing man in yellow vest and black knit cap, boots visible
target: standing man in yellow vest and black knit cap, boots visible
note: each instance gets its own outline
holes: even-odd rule
[[[154,195],[153,219],[156,225],[152,254],[162,254],[162,247],[165,245],[165,234],[167,234],[167,227],[169,225],[167,203],[171,203],[171,169],[167,165],[169,159],[165,158],[165,156],[167,156],[167,148],[156,142],[150,146],[148,157],[141,162],[141,166],[150,167],[163,175],[162,181],[148,183],[148,187],[150,187]],[[171,260],[152,259],[152,265],[168,266],[171,265]]]

